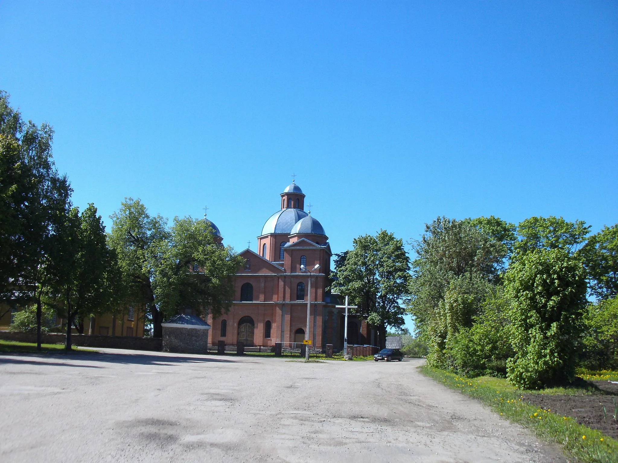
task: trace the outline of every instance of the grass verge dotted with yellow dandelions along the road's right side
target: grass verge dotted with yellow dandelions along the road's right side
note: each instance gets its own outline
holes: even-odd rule
[[[480,399],[503,417],[532,430],[540,438],[562,446],[565,453],[585,463],[618,463],[618,441],[580,425],[570,417],[522,402],[518,391],[507,380],[480,377],[466,378],[427,365],[421,372],[449,388]],[[548,392],[549,391],[549,392]],[[541,391],[552,393],[553,390]],[[526,391],[529,393],[530,391]],[[553,393],[564,393],[555,390]]]

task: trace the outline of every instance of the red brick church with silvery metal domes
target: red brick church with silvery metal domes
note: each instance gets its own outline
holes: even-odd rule
[[[230,311],[219,319],[208,316],[211,343],[242,341],[245,345],[271,346],[276,342],[302,343],[307,328],[309,270],[311,309],[309,339],[320,349],[333,344],[341,349],[344,315],[339,302],[326,290],[331,270],[328,236],[315,217],[305,212],[305,194],[292,181],[281,193],[281,209],[264,224],[258,250],[245,249],[245,265],[236,273],[235,298]],[[216,235],[219,229],[211,222]],[[305,270],[303,270],[305,269]],[[360,317],[349,317],[348,342],[373,344],[376,336]]]

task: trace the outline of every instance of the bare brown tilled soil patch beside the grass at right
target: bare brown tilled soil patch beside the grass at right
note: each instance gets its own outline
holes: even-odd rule
[[[607,436],[618,439],[618,420],[614,420],[614,402],[618,403],[618,385],[607,382],[594,382],[606,394],[569,396],[549,394],[525,394],[523,401],[550,410],[561,416],[572,417],[578,423],[598,429]],[[601,384],[599,384],[601,383]],[[603,405],[606,417],[603,416]]]

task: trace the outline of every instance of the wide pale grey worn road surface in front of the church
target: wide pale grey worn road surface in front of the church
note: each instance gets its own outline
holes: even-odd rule
[[[421,362],[3,355],[0,461],[565,461]]]

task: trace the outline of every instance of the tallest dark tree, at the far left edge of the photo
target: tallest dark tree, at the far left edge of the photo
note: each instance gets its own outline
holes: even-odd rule
[[[0,91],[0,301],[36,305],[40,349],[52,228],[72,190],[54,168],[53,129],[23,122],[8,98]]]

